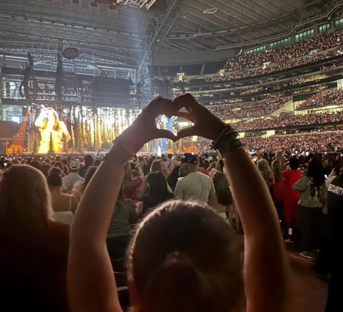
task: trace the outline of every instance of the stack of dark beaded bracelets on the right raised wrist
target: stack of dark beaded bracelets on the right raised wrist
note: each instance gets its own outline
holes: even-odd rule
[[[236,148],[242,146],[242,142],[238,138],[238,132],[230,125],[226,126],[215,141],[212,141],[210,147],[217,149],[219,153],[231,152]]]

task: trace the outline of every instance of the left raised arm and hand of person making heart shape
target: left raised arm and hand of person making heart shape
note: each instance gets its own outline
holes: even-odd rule
[[[71,312],[121,311],[106,234],[124,176],[124,163],[145,142],[175,139],[159,130],[155,118],[168,113],[171,101],[151,102],[135,122],[117,139],[89,182],[76,210],[70,233],[68,296]]]

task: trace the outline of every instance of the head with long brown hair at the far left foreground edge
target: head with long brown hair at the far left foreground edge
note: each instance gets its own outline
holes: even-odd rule
[[[43,173],[27,165],[12,166],[0,180],[0,228],[12,231],[46,228],[50,198]]]

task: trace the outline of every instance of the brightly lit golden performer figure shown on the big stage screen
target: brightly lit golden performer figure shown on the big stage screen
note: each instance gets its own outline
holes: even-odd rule
[[[40,114],[34,122],[40,132],[40,144],[38,153],[46,154],[49,152],[50,134],[53,141],[54,152],[63,151],[63,137],[67,142],[70,141],[69,131],[66,124],[60,121],[55,109],[51,107],[40,107]]]

